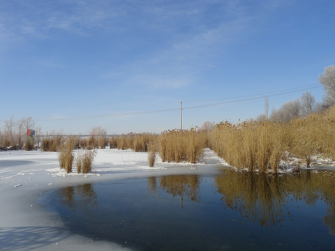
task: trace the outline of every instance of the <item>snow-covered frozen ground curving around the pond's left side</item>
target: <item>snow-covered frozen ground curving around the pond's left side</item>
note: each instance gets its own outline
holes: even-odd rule
[[[176,164],[156,158],[150,168],[147,153],[98,150],[91,174],[66,174],[57,153],[0,151],[0,250],[127,250],[114,243],[92,241],[72,234],[59,216],[38,204],[44,192],[124,178],[168,174],[217,174],[227,163],[209,149],[200,163]]]

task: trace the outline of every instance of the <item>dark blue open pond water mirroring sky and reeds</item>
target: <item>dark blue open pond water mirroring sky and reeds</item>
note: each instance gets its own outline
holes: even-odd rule
[[[52,197],[75,233],[140,250],[333,250],[334,173],[163,176]]]

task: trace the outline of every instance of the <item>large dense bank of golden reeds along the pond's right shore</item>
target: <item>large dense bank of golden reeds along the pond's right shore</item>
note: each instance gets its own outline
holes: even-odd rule
[[[276,173],[288,154],[304,158],[310,167],[313,155],[335,154],[335,106],[290,123],[222,122],[209,137],[211,148],[239,170]]]

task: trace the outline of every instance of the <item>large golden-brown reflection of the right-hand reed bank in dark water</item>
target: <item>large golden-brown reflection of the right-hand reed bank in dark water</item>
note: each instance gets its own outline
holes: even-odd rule
[[[237,173],[234,171],[215,178],[221,200],[242,217],[273,227],[282,224],[284,205],[289,195],[313,205],[318,199],[334,204],[334,174],[302,173],[295,176]],[[286,212],[290,214],[290,212]]]

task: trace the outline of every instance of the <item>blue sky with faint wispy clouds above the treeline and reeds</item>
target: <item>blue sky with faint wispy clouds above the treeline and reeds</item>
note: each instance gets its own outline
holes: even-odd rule
[[[0,0],[0,129],[162,132],[237,122],[335,64],[334,0]]]

